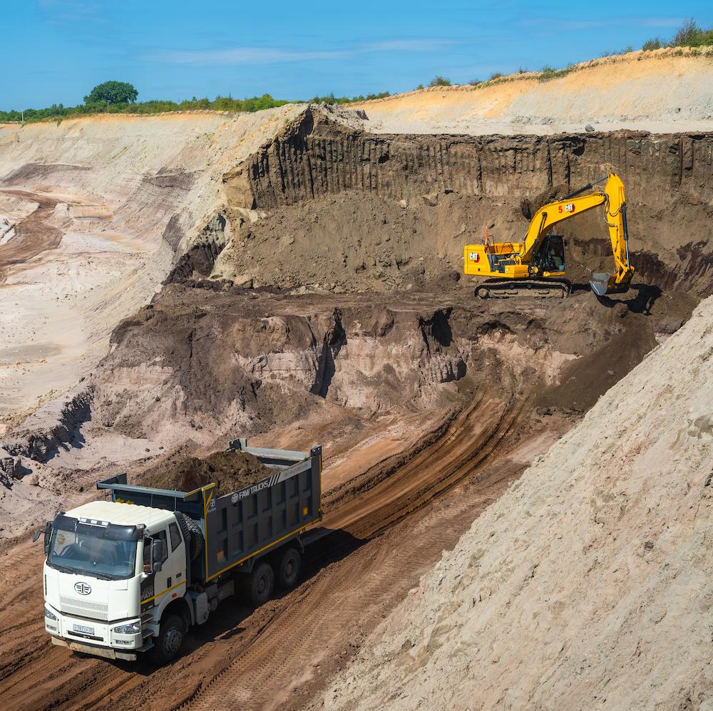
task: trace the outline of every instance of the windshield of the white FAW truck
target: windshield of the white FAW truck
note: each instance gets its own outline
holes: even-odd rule
[[[55,519],[47,563],[72,573],[120,580],[135,572],[137,541],[119,539],[108,526],[89,526],[70,517]],[[122,527],[123,528],[123,527]]]

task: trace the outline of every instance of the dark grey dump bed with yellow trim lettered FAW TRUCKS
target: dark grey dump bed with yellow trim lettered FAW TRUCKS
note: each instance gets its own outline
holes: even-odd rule
[[[126,474],[102,482],[111,500],[180,511],[198,521],[205,536],[202,555],[193,561],[191,577],[210,581],[293,539],[322,519],[322,447],[309,452],[248,447],[230,442],[229,452],[249,452],[275,473],[235,492],[218,492],[207,484],[193,492],[132,486]]]

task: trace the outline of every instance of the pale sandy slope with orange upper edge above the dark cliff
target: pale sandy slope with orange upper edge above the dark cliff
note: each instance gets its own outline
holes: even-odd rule
[[[438,87],[355,104],[376,133],[528,133],[713,130],[713,53],[632,52],[479,86]],[[486,79],[486,77],[481,77]]]

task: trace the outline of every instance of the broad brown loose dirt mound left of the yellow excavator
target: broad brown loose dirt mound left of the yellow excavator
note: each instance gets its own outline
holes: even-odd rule
[[[399,204],[344,192],[280,207],[222,251],[213,278],[337,293],[419,289],[460,279],[464,240],[503,209],[455,194]],[[461,244],[462,243],[462,244]]]

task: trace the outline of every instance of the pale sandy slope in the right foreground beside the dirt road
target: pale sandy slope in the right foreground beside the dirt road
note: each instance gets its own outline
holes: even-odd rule
[[[712,707],[712,306],[473,523],[328,708]]]

